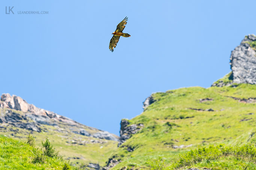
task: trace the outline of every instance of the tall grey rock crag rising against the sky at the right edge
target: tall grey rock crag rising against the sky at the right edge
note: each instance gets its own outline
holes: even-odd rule
[[[253,41],[256,41],[255,35],[245,36],[241,44],[231,53],[233,83],[256,84],[256,51],[250,45]]]

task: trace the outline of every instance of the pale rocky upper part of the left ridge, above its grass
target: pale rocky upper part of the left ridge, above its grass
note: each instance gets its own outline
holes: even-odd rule
[[[0,125],[1,124],[35,132],[41,132],[42,125],[59,127],[60,124],[62,124],[62,126],[66,125],[67,127],[72,127],[71,133],[99,139],[118,140],[115,135],[109,132],[84,126],[70,118],[38,108],[33,104],[27,103],[21,97],[15,95],[11,96],[8,93],[3,94],[0,99]],[[90,132],[86,129],[89,129]],[[62,130],[59,131],[61,132]]]

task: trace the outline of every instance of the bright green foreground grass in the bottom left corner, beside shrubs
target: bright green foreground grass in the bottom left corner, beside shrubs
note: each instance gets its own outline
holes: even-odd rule
[[[62,170],[64,161],[47,157],[44,163],[32,163],[33,147],[18,140],[0,135],[1,170]]]

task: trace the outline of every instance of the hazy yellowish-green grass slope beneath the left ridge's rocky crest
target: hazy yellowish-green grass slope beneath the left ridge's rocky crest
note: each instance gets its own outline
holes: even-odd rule
[[[14,110],[15,111],[15,110]],[[19,112],[19,111],[15,111]],[[23,114],[21,112],[21,114]],[[5,129],[6,128],[6,129]],[[35,137],[36,146],[41,146],[41,142],[48,138],[51,144],[60,151],[60,155],[64,160],[74,165],[80,163],[99,163],[104,165],[111,154],[117,149],[117,142],[113,140],[96,139],[69,132],[67,126],[59,124],[59,127],[41,125],[42,132],[31,131]],[[86,129],[90,132],[90,129]],[[62,132],[63,131],[63,132]],[[25,142],[30,131],[17,127],[5,126],[0,127],[0,134]],[[91,142],[97,141],[101,143]],[[86,142],[86,143],[83,143]]]

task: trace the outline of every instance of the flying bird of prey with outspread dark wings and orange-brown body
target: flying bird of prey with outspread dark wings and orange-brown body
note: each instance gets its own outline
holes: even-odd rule
[[[123,19],[123,21],[121,21],[117,27],[116,27],[116,31],[114,31],[114,34],[113,37],[111,38],[110,40],[110,43],[109,43],[109,49],[111,52],[114,51],[114,48],[116,48],[116,44],[118,43],[119,41],[119,38],[120,36],[123,36],[123,37],[131,37],[131,35],[127,34],[127,33],[123,33],[123,29],[125,28],[125,25],[127,24],[127,21],[128,18],[127,16],[125,17],[125,19]]]

